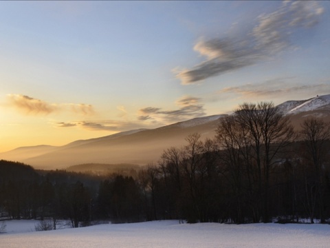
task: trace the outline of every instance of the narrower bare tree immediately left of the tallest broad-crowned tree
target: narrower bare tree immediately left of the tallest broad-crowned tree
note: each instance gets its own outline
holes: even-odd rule
[[[241,125],[237,115],[225,116],[221,118],[216,130],[216,140],[219,143],[221,152],[219,153],[221,163],[225,168],[225,178],[228,181],[228,205],[232,209],[235,223],[243,223],[243,209],[246,205],[252,209],[254,222],[259,221],[258,207],[253,197],[256,181],[253,179],[253,169],[251,167],[251,140],[248,130]],[[245,199],[243,199],[245,198]],[[254,198],[254,200],[252,200]],[[245,203],[243,201],[245,200]],[[251,200],[250,204],[247,201]],[[244,206],[245,205],[245,206]]]

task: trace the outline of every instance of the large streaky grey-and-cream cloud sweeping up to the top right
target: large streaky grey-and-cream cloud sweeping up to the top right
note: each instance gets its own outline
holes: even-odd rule
[[[289,48],[292,34],[316,25],[323,12],[317,1],[283,1],[278,10],[257,17],[256,25],[243,38],[198,41],[194,50],[206,56],[206,61],[176,76],[188,85],[264,61]]]

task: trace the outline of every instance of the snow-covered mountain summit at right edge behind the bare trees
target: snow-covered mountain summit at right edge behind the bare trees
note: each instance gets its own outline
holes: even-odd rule
[[[302,101],[286,101],[278,105],[284,114],[298,114],[315,110],[330,110],[330,94]]]

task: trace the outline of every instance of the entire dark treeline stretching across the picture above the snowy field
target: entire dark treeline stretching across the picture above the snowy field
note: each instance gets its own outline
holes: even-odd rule
[[[37,173],[0,161],[1,213],[65,218],[73,227],[104,219],[329,221],[329,123],[308,118],[297,131],[272,103],[243,104],[219,120],[216,133],[204,141],[191,134],[184,147],[169,147],[134,176]]]

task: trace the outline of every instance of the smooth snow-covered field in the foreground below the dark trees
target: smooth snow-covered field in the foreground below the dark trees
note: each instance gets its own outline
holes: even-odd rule
[[[164,220],[34,231],[36,223],[7,221],[0,247],[330,247],[330,225],[318,224],[180,225]]]

